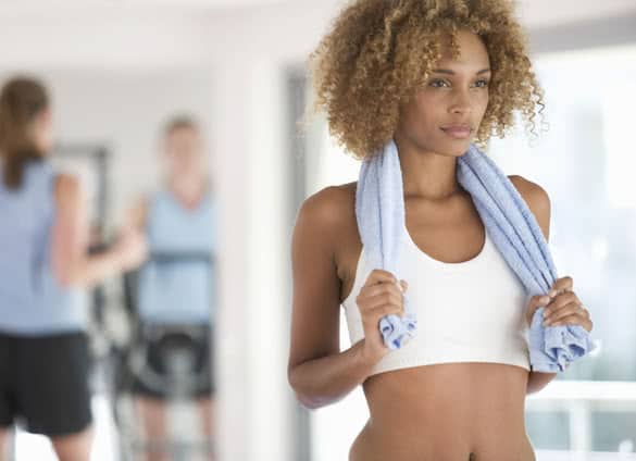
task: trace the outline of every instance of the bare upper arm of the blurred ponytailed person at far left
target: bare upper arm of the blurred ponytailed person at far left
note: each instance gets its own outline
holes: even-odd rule
[[[77,178],[66,174],[55,178],[54,202],[51,263],[58,281],[71,285],[75,261],[88,245],[86,201]]]

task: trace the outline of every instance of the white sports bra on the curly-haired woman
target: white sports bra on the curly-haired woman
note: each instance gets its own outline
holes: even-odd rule
[[[453,362],[491,362],[529,371],[525,289],[488,233],[479,254],[459,263],[431,258],[407,228],[400,253],[401,278],[417,315],[415,336],[387,353],[372,374]],[[353,288],[342,302],[351,344],[364,337],[356,297],[374,267],[360,253]]]

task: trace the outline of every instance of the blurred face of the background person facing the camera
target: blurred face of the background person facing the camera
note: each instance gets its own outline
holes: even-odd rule
[[[165,163],[170,177],[199,177],[205,167],[203,142],[199,133],[191,127],[173,129],[165,137]]]

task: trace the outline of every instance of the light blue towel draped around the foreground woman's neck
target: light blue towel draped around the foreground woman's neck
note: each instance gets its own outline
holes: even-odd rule
[[[460,185],[471,194],[488,235],[526,292],[547,294],[558,278],[557,270],[541,229],[514,185],[474,145],[458,158],[457,175]],[[370,264],[400,279],[399,251],[406,212],[400,160],[392,139],[382,152],[362,162],[356,215]],[[529,327],[533,371],[563,371],[590,350],[589,334],[581,325],[544,327],[543,320],[544,308],[539,308]],[[381,320],[386,346],[398,349],[404,345],[415,334],[416,322],[406,294],[404,315],[387,315]]]

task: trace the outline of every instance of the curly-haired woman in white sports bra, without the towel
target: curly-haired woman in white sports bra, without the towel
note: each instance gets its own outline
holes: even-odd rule
[[[362,385],[371,418],[351,461],[534,460],[524,400],[554,374],[529,372],[529,320],[547,306],[551,325],[590,331],[591,321],[571,277],[527,299],[456,176],[470,142],[503,135],[514,111],[533,127],[543,107],[510,4],[354,1],[313,63],[317,105],[349,152],[364,159],[395,140],[407,228],[397,281],[365,262],[356,183],[327,187],[302,204],[292,238],[288,370],[298,399],[319,408]],[[510,180],[547,239],[548,195],[521,176]],[[403,313],[404,290],[417,332],[389,351],[378,322]],[[340,304],[351,337],[361,337],[346,350],[338,341]]]

